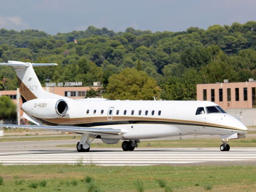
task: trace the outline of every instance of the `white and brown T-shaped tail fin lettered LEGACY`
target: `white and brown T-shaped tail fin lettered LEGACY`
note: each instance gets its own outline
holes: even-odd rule
[[[21,96],[26,100],[36,98],[59,98],[56,94],[45,91],[35,74],[33,66],[54,66],[55,63],[29,63],[20,61],[8,61],[8,63],[0,63],[3,66],[13,66],[18,78],[18,84]],[[22,98],[22,100],[23,100]]]

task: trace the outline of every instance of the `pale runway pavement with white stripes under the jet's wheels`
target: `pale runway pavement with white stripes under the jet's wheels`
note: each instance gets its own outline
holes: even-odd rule
[[[120,149],[95,148],[87,153],[71,150],[1,151],[3,165],[20,164],[85,164],[99,166],[146,165],[239,165],[256,163],[256,148],[231,148],[221,152],[218,148],[139,148],[124,152]]]

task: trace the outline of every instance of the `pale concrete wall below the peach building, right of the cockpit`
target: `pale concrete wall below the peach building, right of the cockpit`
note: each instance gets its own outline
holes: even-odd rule
[[[256,126],[256,108],[227,109],[226,112],[239,119],[245,126]]]

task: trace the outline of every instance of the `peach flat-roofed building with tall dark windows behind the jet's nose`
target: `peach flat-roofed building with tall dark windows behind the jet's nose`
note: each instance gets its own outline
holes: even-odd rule
[[[256,126],[256,81],[197,84],[197,100],[212,101],[246,126]]]

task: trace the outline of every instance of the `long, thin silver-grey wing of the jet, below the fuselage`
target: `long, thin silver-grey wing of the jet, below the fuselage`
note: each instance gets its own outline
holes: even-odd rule
[[[120,135],[122,131],[120,129],[112,128],[97,128],[97,127],[73,127],[73,126],[45,126],[45,125],[8,125],[0,124],[0,127],[6,128],[29,128],[29,129],[44,129],[52,131],[64,131],[74,133],[92,133],[92,134],[108,134],[108,135]]]

